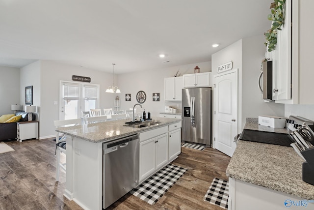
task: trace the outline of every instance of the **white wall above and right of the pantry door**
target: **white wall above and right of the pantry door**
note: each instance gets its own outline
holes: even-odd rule
[[[284,115],[284,106],[265,103],[257,86],[261,70],[261,61],[265,47],[263,36],[254,36],[238,40],[211,56],[212,75],[217,74],[217,67],[233,61],[233,69],[238,69],[238,124],[242,131],[246,118],[258,118],[259,115]]]

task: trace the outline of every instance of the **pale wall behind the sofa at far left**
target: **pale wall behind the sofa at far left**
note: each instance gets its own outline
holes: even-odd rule
[[[20,68],[0,66],[0,116],[13,114],[11,104],[20,104]]]

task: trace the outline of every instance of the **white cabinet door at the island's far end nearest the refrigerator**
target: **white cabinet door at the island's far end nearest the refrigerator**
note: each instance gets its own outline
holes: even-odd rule
[[[168,146],[169,160],[181,153],[181,128],[169,132]]]

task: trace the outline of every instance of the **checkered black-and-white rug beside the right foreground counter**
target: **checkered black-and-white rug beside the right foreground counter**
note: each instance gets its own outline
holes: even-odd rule
[[[204,201],[228,209],[229,184],[228,181],[214,178],[204,197]]]

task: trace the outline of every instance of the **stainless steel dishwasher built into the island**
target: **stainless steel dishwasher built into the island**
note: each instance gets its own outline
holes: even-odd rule
[[[131,135],[103,144],[103,208],[138,185],[139,139]]]

